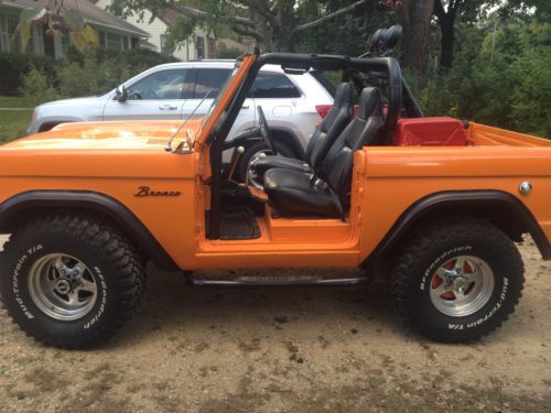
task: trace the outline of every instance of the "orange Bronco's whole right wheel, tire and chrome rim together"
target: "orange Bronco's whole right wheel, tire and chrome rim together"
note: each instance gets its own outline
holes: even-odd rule
[[[418,232],[395,264],[391,289],[400,313],[421,333],[462,343],[507,319],[520,298],[523,272],[504,232],[464,218]]]

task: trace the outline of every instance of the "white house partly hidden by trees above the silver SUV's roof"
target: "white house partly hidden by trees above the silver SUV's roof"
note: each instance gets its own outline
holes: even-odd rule
[[[117,0],[90,0],[101,9],[111,8],[115,14],[122,17],[122,9],[117,8]],[[126,21],[140,28],[149,34],[147,42],[142,44],[144,48],[151,48],[159,53],[172,54],[181,61],[193,61],[198,58],[213,58],[216,56],[216,37],[213,32],[205,29],[196,28],[195,33],[191,39],[181,42],[175,51],[166,48],[166,31],[171,25],[174,25],[181,17],[173,9],[165,9],[163,13],[151,21],[152,14],[148,10],[143,12],[143,18],[140,19],[139,13],[126,17]],[[151,21],[151,22],[150,22]],[[154,47],[151,47],[154,46]],[[172,52],[172,53],[171,53]]]

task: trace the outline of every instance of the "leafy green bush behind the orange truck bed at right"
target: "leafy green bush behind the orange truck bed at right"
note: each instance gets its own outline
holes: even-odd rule
[[[451,70],[407,76],[424,113],[551,138],[551,23],[463,30]]]

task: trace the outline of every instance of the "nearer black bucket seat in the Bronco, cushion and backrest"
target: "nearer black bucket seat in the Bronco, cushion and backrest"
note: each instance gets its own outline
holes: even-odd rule
[[[361,91],[358,115],[339,134],[318,174],[276,167],[264,174],[264,192],[278,216],[344,218],[354,152],[378,139],[385,124],[380,90]]]

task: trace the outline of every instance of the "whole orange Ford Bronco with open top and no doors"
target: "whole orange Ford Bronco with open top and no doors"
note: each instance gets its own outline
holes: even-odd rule
[[[226,141],[264,64],[343,73],[302,159],[277,154],[260,106],[259,127]],[[272,154],[239,183],[250,141]],[[136,312],[148,260],[203,285],[352,285],[378,275],[424,335],[467,341],[498,327],[520,297],[514,241],[529,232],[551,259],[550,205],[551,141],[424,118],[393,58],[251,54],[203,119],[62,124],[0,146],[0,233],[11,233],[0,293],[26,334],[84,348]],[[282,267],[364,271],[193,276]]]

